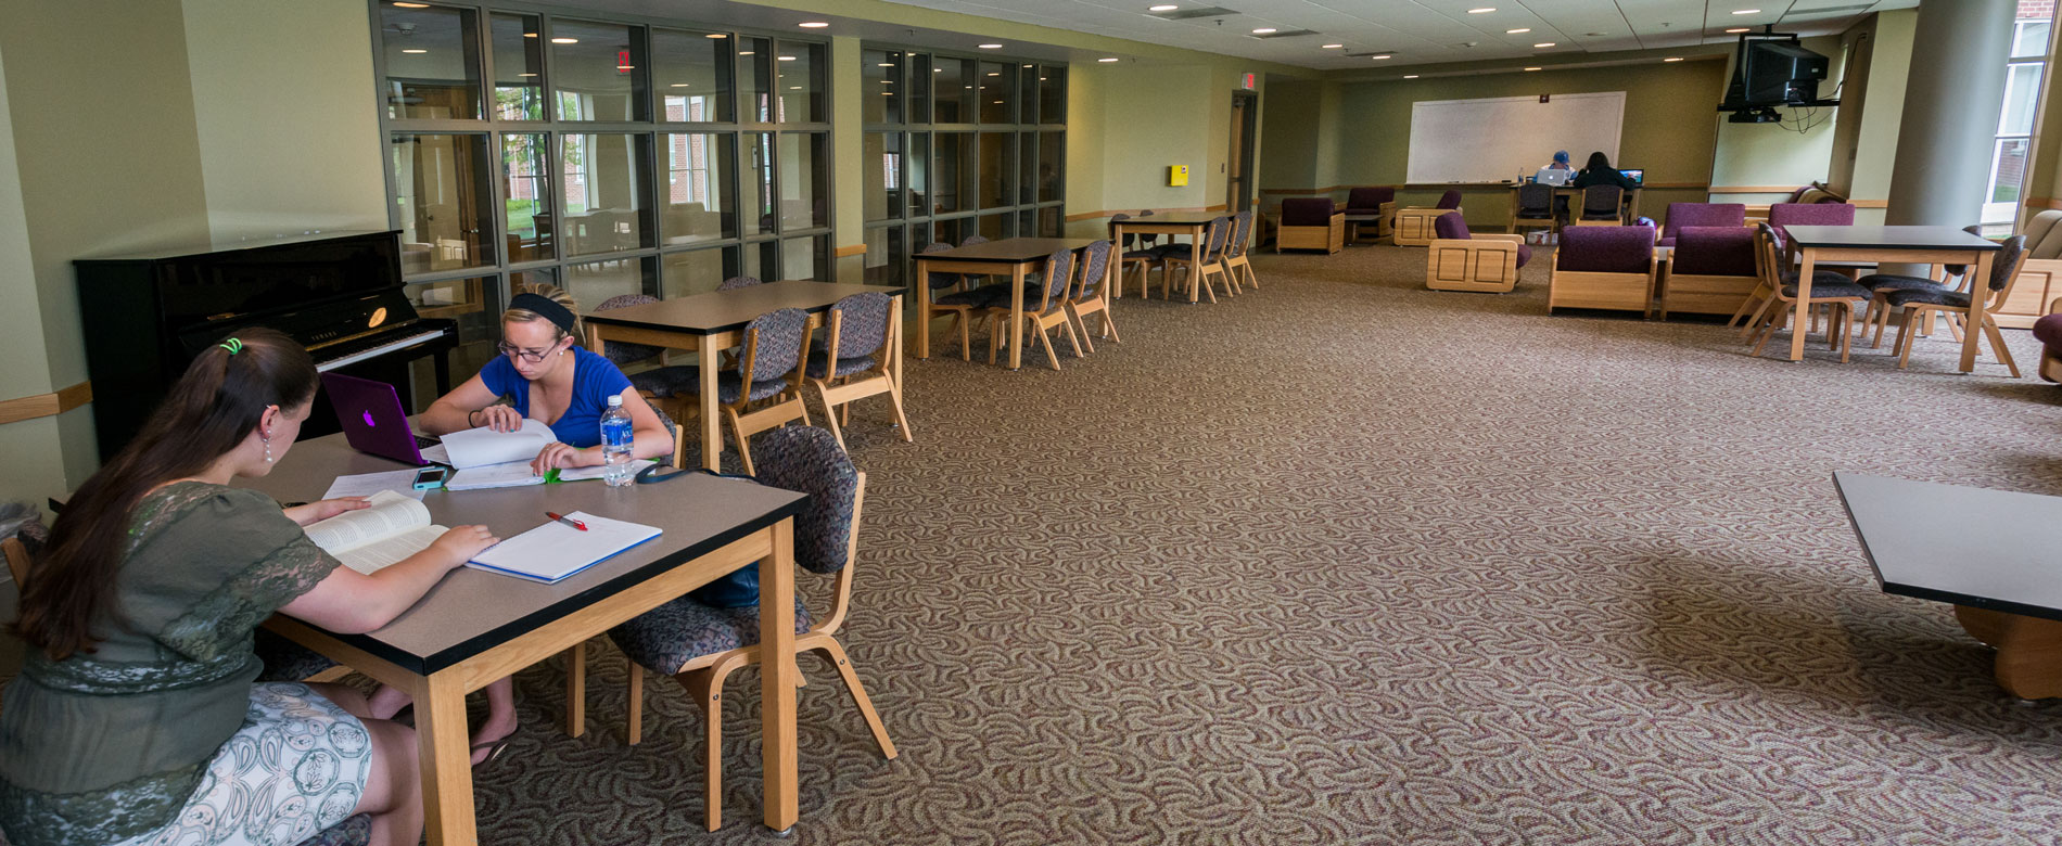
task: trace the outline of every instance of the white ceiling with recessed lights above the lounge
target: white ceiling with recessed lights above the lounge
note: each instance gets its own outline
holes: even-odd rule
[[[1728,43],[1730,27],[1775,25],[1782,33],[1839,33],[1885,8],[1920,0],[891,0],[940,12],[1109,35],[1165,47],[1281,62],[1316,70],[1392,68],[1435,62],[1582,56],[1619,49]],[[1163,21],[1153,4],[1229,8],[1229,16]],[[1495,8],[1468,14],[1470,8]],[[1753,14],[1736,10],[1759,8]],[[1254,29],[1316,35],[1254,37]],[[1528,33],[1507,33],[1530,29]],[[1534,47],[1534,43],[1555,47]],[[1340,49],[1322,49],[1342,43]],[[1390,60],[1369,56],[1390,51]]]

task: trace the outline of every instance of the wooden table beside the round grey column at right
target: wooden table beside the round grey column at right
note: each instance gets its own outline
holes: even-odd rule
[[[1901,261],[1973,266],[1971,280],[1990,278],[1996,241],[1955,226],[1784,226],[1798,253],[1798,296],[1790,315],[1790,360],[1804,360],[1804,303],[1819,261]],[[1982,282],[1980,282],[1982,284]],[[1961,340],[1961,373],[1975,371],[1977,342],[1984,338],[1984,288],[1969,296],[1969,331]]]

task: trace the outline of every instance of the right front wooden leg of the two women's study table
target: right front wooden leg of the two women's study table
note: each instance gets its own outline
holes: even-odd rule
[[[794,688],[802,673],[794,665],[794,519],[773,525],[773,554],[759,564],[759,644],[765,823],[788,832],[800,815]]]

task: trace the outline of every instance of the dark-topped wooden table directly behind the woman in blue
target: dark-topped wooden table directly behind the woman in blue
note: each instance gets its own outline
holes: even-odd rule
[[[579,315],[588,323],[588,350],[602,352],[608,342],[650,344],[670,350],[693,350],[701,366],[701,465],[722,469],[724,430],[716,401],[716,354],[744,344],[744,325],[753,317],[779,309],[802,309],[808,327],[823,325],[823,313],[837,301],[883,292],[895,298],[889,311],[891,338],[901,338],[901,296],[903,288],[878,284],[831,284],[810,280],[786,280],[744,286],[736,290],[716,290],[707,294],[680,296],[633,305],[627,309],[590,311]],[[926,298],[926,303],[930,303]],[[806,352],[804,352],[806,356]],[[901,346],[887,350],[889,373],[895,389],[901,389]],[[800,385],[796,385],[800,389]]]

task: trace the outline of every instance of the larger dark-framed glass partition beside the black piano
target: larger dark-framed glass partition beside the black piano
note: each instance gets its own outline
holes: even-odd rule
[[[390,224],[410,296],[462,317],[454,364],[491,354],[493,315],[528,282],[594,309],[740,274],[829,280],[825,43],[629,14],[369,6]]]

